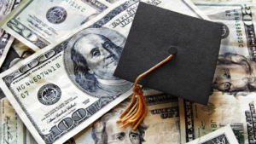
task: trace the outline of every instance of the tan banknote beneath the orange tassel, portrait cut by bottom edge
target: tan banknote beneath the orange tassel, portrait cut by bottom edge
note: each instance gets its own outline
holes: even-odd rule
[[[156,93],[155,93],[156,92]],[[148,108],[147,117],[137,130],[132,125],[119,129],[119,114],[130,104],[131,97],[97,119],[94,124],[73,136],[73,143],[180,143],[177,97],[153,90],[144,91]],[[70,142],[72,143],[72,142]]]

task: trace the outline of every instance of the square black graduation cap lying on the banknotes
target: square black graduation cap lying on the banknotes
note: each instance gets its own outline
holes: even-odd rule
[[[140,3],[114,76],[207,105],[218,60],[222,25]],[[174,51],[173,51],[174,49]]]

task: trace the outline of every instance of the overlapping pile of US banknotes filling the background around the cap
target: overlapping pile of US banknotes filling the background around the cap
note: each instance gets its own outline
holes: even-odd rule
[[[222,40],[207,106],[143,87],[147,117],[119,129],[133,84],[113,72],[140,1],[222,24]],[[0,0],[0,144],[256,143],[255,4]]]

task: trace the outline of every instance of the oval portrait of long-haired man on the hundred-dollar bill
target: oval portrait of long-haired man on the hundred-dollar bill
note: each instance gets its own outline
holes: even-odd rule
[[[131,82],[113,76],[125,37],[108,28],[88,28],[76,34],[65,50],[65,66],[79,89],[96,97],[118,96]]]

